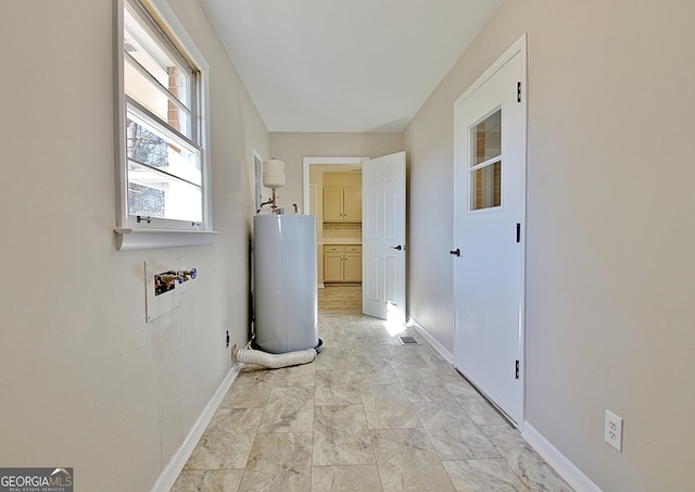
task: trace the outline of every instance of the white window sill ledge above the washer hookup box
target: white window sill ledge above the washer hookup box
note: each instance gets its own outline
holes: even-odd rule
[[[210,244],[218,231],[174,229],[114,229],[118,251],[149,250],[185,245]]]

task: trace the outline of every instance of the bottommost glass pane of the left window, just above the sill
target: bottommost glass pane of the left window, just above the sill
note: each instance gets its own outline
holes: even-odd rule
[[[128,214],[200,223],[201,188],[128,161]]]

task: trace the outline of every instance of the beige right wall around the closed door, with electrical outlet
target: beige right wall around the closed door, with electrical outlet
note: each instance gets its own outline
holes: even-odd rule
[[[451,350],[453,103],[528,33],[526,418],[605,491],[695,489],[693,18],[506,0],[403,136],[410,314]]]

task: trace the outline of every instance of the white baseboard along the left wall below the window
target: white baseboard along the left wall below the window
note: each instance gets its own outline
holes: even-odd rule
[[[156,479],[156,482],[154,482],[154,485],[152,485],[151,492],[168,492],[169,490],[172,490],[172,487],[174,487],[174,482],[176,482],[176,479],[186,466],[186,463],[193,453],[198,441],[200,441],[200,438],[203,436],[203,432],[207,428],[207,425],[215,415],[217,407],[225,399],[227,391],[229,391],[229,388],[237,378],[238,374],[238,367],[232,366],[229,369],[229,373],[227,373],[227,376],[225,376],[225,379],[223,379],[222,383],[217,388],[217,391],[215,391],[213,396],[207,402],[207,405],[205,405],[205,408],[203,408],[203,412],[198,417],[198,420],[195,420],[195,424],[193,424],[190,432],[188,433],[188,436],[186,436],[186,439],[184,440],[179,449],[176,450],[176,453],[174,453],[174,456],[172,456],[169,463],[162,470],[162,474]]]

